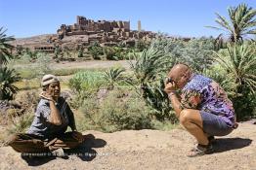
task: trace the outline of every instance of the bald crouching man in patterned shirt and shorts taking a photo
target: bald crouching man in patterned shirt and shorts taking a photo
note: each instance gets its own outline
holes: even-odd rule
[[[182,90],[181,96],[176,93],[177,88]],[[177,118],[198,142],[188,156],[212,153],[214,136],[228,135],[237,125],[233,104],[221,86],[193,74],[185,64],[171,69],[164,90]]]

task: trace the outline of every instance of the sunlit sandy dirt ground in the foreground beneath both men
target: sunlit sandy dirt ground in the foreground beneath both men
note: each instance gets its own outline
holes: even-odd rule
[[[256,125],[240,123],[215,144],[216,153],[187,157],[192,137],[182,129],[125,130],[91,133],[90,139],[68,158],[25,161],[10,147],[0,148],[0,169],[256,169]],[[89,150],[91,148],[91,150]],[[91,156],[88,156],[90,153]],[[28,166],[30,165],[30,166]]]

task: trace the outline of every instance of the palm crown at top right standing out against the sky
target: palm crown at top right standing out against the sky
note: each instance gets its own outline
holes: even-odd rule
[[[207,27],[228,32],[232,42],[242,41],[245,35],[256,34],[255,9],[245,4],[240,4],[237,7],[229,7],[228,12],[230,20],[216,13],[217,18],[215,21],[220,26]]]

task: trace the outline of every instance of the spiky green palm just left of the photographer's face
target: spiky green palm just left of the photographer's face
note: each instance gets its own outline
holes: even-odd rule
[[[159,120],[173,119],[168,96],[163,91],[162,75],[169,69],[169,56],[150,47],[131,62],[135,82],[130,82],[147,104],[155,110],[154,117]],[[139,86],[138,86],[139,85]]]

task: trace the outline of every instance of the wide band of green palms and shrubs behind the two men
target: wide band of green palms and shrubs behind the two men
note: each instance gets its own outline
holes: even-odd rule
[[[255,118],[256,44],[243,38],[246,34],[255,33],[255,13],[254,9],[241,4],[229,9],[230,20],[217,14],[216,21],[230,35],[231,42],[221,37],[183,40],[159,34],[150,43],[138,41],[134,48],[121,43],[116,47],[101,47],[94,43],[88,48],[94,59],[130,59],[129,70],[120,67],[53,70],[49,66],[49,55],[22,49],[19,50],[20,55],[12,60],[12,48],[7,44],[12,38],[0,33],[1,99],[14,98],[18,90],[16,86],[28,91],[38,88],[38,78],[43,74],[70,75],[69,103],[75,112],[79,130],[170,129],[176,125],[177,119],[163,91],[164,80],[174,64],[186,63],[194,72],[205,74],[224,87],[234,103],[238,120]],[[77,47],[73,56],[85,57],[84,51],[83,46]],[[64,51],[56,49],[54,57],[60,59],[71,54],[68,48]],[[25,68],[24,64],[28,66]],[[19,74],[22,82],[16,83],[20,80]],[[37,102],[32,95],[38,96],[37,93],[24,95],[33,100],[30,103],[35,103],[32,106],[25,104],[31,106],[25,108],[27,112],[9,111],[15,124],[10,127],[11,132],[23,131],[30,124]],[[18,100],[18,96],[15,99]]]

